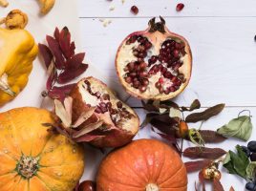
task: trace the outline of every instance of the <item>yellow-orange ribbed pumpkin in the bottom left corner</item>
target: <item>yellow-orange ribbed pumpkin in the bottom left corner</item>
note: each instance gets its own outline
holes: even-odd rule
[[[46,110],[19,108],[0,114],[0,190],[72,191],[84,170],[83,148],[53,134]]]

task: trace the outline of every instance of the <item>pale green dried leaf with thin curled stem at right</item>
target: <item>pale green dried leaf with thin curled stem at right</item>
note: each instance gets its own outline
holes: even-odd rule
[[[217,132],[227,138],[239,138],[247,141],[252,132],[251,119],[247,116],[234,118],[218,129]]]

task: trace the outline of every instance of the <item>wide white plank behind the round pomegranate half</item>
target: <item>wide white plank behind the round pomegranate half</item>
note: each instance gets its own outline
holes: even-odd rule
[[[96,18],[80,19],[83,50],[98,69],[117,80],[119,43],[130,32],[145,29],[147,22],[147,18],[115,18],[104,28]],[[254,17],[166,19],[170,30],[190,42],[194,57],[192,79],[179,97],[182,104],[199,98],[203,106],[220,102],[256,106],[255,22]]]

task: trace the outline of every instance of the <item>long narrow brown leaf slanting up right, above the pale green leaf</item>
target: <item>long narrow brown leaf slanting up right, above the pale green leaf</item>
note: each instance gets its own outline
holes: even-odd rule
[[[198,122],[198,121],[202,121],[202,120],[207,120],[210,117],[217,116],[223,110],[224,110],[224,104],[218,104],[218,105],[215,105],[213,107],[206,109],[205,111],[203,111],[201,113],[194,113],[194,114],[188,115],[185,118],[185,121],[186,122]]]

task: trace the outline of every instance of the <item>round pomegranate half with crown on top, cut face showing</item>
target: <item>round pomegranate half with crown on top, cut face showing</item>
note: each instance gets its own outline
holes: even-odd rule
[[[170,32],[160,17],[149,28],[128,35],[117,51],[117,75],[126,91],[142,99],[166,100],[181,94],[192,70],[185,38]]]

